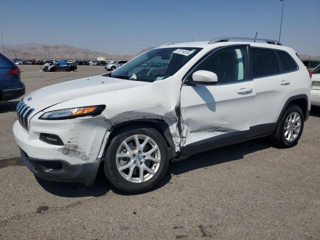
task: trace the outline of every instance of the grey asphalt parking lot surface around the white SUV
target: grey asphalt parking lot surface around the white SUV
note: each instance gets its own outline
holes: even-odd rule
[[[21,70],[26,94],[105,72]],[[0,239],[320,239],[320,107],[292,148],[263,138],[206,151],[130,195],[103,172],[91,188],[35,178],[13,139],[17,102],[0,102]]]

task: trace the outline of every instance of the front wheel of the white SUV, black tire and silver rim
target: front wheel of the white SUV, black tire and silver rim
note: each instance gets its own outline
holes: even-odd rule
[[[137,148],[135,147],[136,144],[134,136],[138,137],[139,146],[141,146],[144,140],[146,140],[146,137],[150,137],[151,139],[144,145],[144,147],[142,146],[143,149],[140,148],[142,149],[140,154],[138,154]],[[123,142],[125,140],[127,142],[127,146],[131,148],[132,154],[130,154],[129,150],[124,147]],[[154,147],[155,144],[153,143],[157,145],[157,149]],[[148,155],[153,155],[153,159],[157,159],[157,162],[149,160],[149,156],[147,154],[143,157],[143,153],[150,151],[150,149],[156,149]],[[133,153],[135,155],[133,155]],[[130,157],[117,157],[117,154],[127,154]],[[158,159],[160,159],[160,161],[158,161]],[[157,130],[149,127],[131,127],[123,129],[111,139],[105,152],[104,174],[111,184],[117,189],[129,193],[141,193],[155,187],[161,181],[166,173],[168,163],[167,145],[163,136]],[[129,165],[129,167],[125,168],[126,165]],[[124,166],[124,168],[119,170],[118,167],[121,166]],[[148,170],[145,170],[147,169],[145,167],[147,167]],[[143,169],[141,171],[142,177],[140,169]],[[131,178],[129,178],[130,172]],[[141,181],[140,179],[143,180]]]

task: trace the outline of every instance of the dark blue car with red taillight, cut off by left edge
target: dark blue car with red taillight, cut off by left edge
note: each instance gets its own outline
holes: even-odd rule
[[[0,53],[0,101],[18,98],[25,93],[20,68]]]

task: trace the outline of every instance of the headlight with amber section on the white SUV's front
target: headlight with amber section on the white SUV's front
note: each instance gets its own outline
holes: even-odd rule
[[[104,108],[105,108],[105,105],[96,105],[96,106],[80,106],[80,107],[74,107],[74,108],[48,111],[43,113],[39,117],[39,119],[61,120],[61,119],[76,118],[80,116],[96,116],[101,114]]]

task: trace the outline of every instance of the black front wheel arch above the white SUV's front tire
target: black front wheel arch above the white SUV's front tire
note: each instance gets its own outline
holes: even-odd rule
[[[138,127],[151,127],[156,129],[164,138],[167,147],[168,147],[168,153],[169,158],[172,158],[176,155],[175,152],[175,146],[172,139],[172,135],[169,130],[168,124],[163,119],[133,119],[133,120],[127,120],[121,123],[117,123],[116,125],[112,126],[110,129],[110,134],[108,136],[108,140],[105,144],[104,151],[107,149],[108,145],[110,144],[110,140],[116,136],[117,134],[126,131],[128,129],[132,128],[138,128]],[[103,153],[104,155],[104,153]]]

